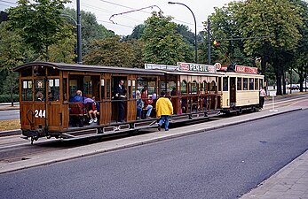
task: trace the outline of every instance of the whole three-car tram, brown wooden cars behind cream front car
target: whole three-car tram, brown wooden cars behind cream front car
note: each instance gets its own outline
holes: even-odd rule
[[[14,71],[20,75],[21,130],[31,143],[40,137],[77,139],[156,127],[155,102],[162,90],[174,108],[170,123],[208,119],[220,112],[256,111],[264,80],[257,73],[218,71],[214,65],[190,63],[146,64],[138,69],[34,62]],[[115,91],[120,81],[125,89],[122,99]],[[152,102],[149,117],[146,106],[142,116],[137,115],[142,90],[147,95],[141,100]],[[78,92],[82,100],[76,102]],[[96,122],[89,117],[93,99],[99,103]],[[119,103],[124,108],[123,120],[119,120]]]

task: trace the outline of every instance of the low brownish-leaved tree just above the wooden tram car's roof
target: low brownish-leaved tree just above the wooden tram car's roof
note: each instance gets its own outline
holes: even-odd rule
[[[84,57],[84,63],[88,65],[107,65],[120,67],[138,67],[136,44],[131,42],[119,42],[120,36],[91,42],[89,53]],[[136,41],[137,42],[137,41]]]

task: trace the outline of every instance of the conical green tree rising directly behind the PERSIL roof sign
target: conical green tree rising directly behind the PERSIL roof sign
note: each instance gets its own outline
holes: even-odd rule
[[[176,65],[178,61],[185,61],[186,45],[183,36],[177,34],[177,24],[170,20],[170,17],[155,11],[152,17],[146,19],[146,27],[141,36],[145,42],[142,53],[145,63]]]

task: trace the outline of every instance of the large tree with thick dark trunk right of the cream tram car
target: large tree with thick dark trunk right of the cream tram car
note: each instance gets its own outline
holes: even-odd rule
[[[263,6],[260,6],[263,4]],[[263,40],[245,40],[248,55],[262,57],[262,72],[270,63],[276,73],[277,95],[281,95],[281,80],[288,60],[294,56],[301,38],[298,27],[303,25],[298,7],[289,0],[249,0],[236,13],[239,28],[244,37],[260,37]]]

